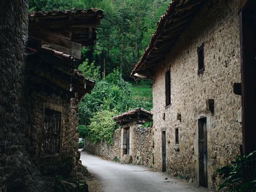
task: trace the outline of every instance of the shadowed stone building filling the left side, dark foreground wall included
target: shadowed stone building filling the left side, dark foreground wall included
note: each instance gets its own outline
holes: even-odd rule
[[[52,191],[43,175],[76,170],[77,101],[94,82],[76,70],[74,57],[81,44],[95,43],[103,12],[28,17],[26,0],[0,6],[0,191]]]

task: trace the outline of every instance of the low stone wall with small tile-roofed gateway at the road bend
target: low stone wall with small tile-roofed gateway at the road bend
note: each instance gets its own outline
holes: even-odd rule
[[[96,154],[110,160],[123,163],[152,166],[153,162],[153,130],[142,127],[145,122],[152,122],[152,114],[143,108],[120,114],[113,118],[121,127],[114,131],[113,143],[105,141],[92,143],[85,140],[86,152]]]

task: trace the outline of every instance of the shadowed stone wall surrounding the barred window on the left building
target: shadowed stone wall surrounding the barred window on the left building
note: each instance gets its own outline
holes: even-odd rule
[[[76,172],[78,152],[78,100],[61,98],[55,94],[47,95],[32,87],[28,96],[26,111],[26,148],[41,173],[65,174]],[[40,150],[44,135],[44,108],[61,112],[60,153],[57,156],[42,157]]]

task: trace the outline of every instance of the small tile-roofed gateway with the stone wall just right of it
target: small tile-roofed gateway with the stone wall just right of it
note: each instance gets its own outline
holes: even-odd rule
[[[151,112],[143,108],[135,108],[129,112],[115,116],[113,120],[121,125],[121,161],[126,163],[138,163],[139,161],[144,162],[144,158],[147,158],[147,162],[151,163],[151,160],[148,160],[152,159],[152,145],[150,143],[152,136],[151,129],[140,130],[140,126],[137,126],[145,122],[151,122]],[[149,134],[147,134],[147,132],[149,132]]]

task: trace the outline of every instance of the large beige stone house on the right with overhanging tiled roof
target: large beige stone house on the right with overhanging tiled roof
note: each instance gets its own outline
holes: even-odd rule
[[[255,135],[255,126],[248,126],[249,113],[255,114],[255,108],[250,107],[247,116],[245,110],[242,113],[243,123],[247,121],[247,127],[243,125],[247,140],[242,140],[242,102],[237,95],[241,92],[243,56],[240,39],[246,39],[240,36],[240,30],[244,30],[240,28],[243,20],[239,19],[243,11],[249,26],[244,26],[244,31],[255,39],[255,31],[250,33],[255,30],[255,26],[250,28],[255,25],[255,6],[250,7],[254,11],[251,23],[245,11],[250,8],[242,6],[249,3],[255,2],[176,0],[160,18],[149,47],[131,73],[135,80],[153,80],[156,169],[216,189],[216,170],[234,160],[241,148],[246,153],[248,148],[255,150],[255,142],[250,138],[250,133]],[[246,43],[242,46],[251,46],[252,54],[246,56],[250,60],[255,57],[255,41]],[[251,74],[248,60],[245,66],[249,80],[242,81],[242,86],[247,94],[250,86],[255,96],[255,65]],[[245,97],[244,94],[243,102]],[[247,95],[247,99],[255,106],[255,97]],[[248,106],[248,101],[245,103]]]

